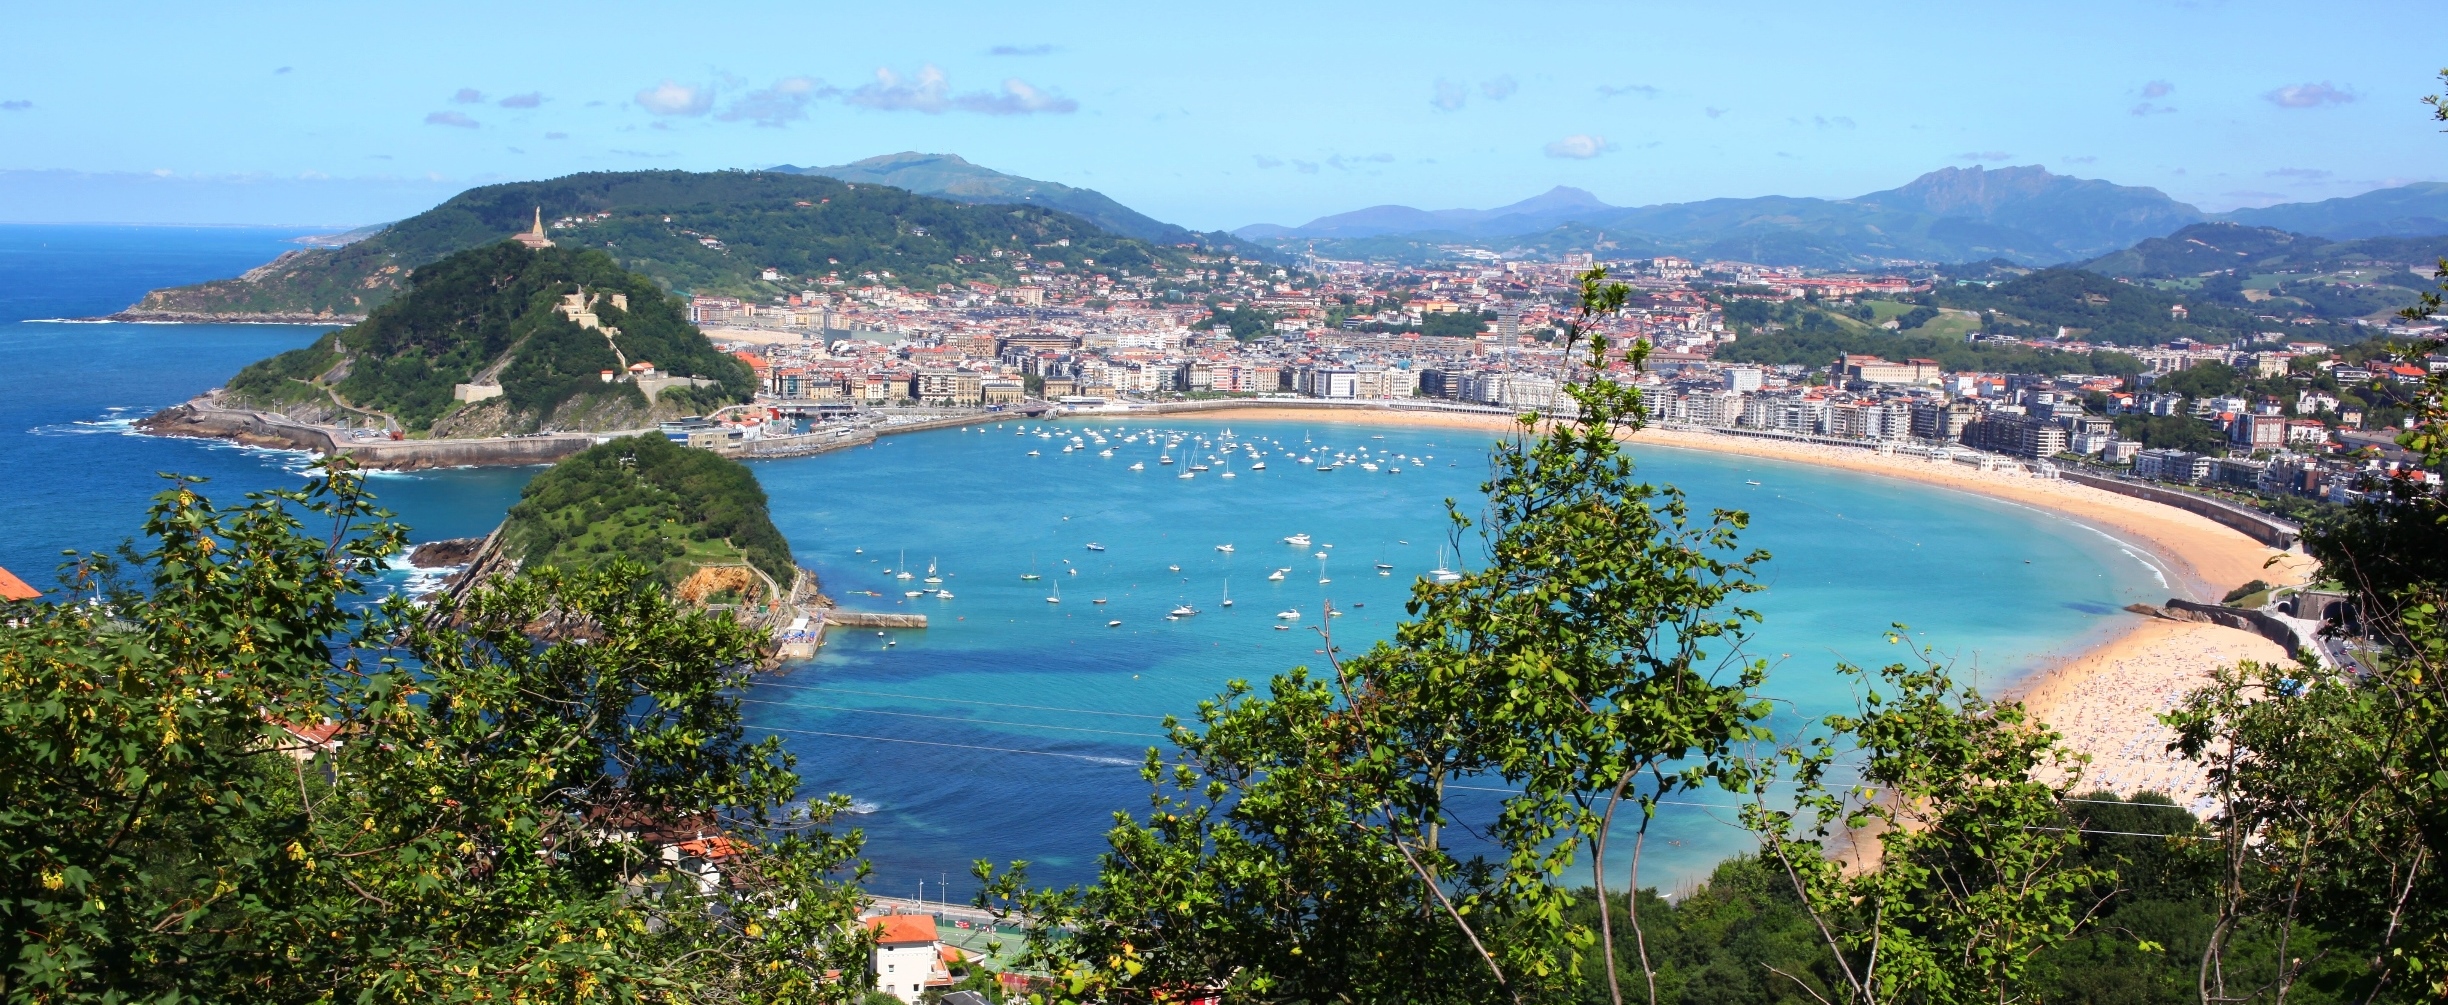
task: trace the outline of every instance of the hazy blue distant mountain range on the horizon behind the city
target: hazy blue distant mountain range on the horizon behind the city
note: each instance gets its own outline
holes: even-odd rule
[[[1608,205],[1581,188],[1493,210],[1371,205],[1300,227],[1248,225],[1234,235],[1322,252],[1388,252],[1410,242],[1520,245],[1616,254],[1694,254],[1760,264],[1868,267],[1885,259],[2020,264],[2081,262],[2211,220],[2284,227],[2333,240],[2448,235],[2448,183],[2414,183],[2323,203],[2203,213],[2157,188],[2071,179],[2042,166],[1939,169],[1856,198],[1711,198]]]

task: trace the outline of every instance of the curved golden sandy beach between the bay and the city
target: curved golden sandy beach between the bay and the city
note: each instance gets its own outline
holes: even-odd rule
[[[1290,418],[1364,425],[1483,428],[1491,433],[1515,428],[1506,416],[1361,408],[1290,411],[1256,406],[1202,411],[1195,418]],[[2171,594],[2186,599],[2218,602],[2228,589],[2250,580],[2299,584],[2311,575],[2306,555],[2274,550],[2206,516],[2024,472],[1983,472],[1956,462],[1880,455],[1858,447],[1699,430],[1648,428],[1635,433],[1633,443],[1841,467],[2069,516],[2149,553],[2169,572]],[[2037,719],[2066,734],[2066,746],[2093,758],[2083,782],[2086,790],[2105,787],[2118,795],[2166,792],[2179,802],[2193,802],[2203,790],[2201,770],[2166,753],[2174,734],[2157,716],[2174,707],[2184,692],[2206,685],[2211,672],[2223,665],[2284,658],[2286,653],[2277,643],[2250,631],[2132,614],[2125,631],[2066,660],[2032,670],[2007,687],[2007,697],[2020,697]]]

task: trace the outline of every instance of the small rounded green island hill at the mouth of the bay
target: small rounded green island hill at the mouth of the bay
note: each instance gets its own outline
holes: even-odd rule
[[[707,565],[754,565],[791,587],[791,543],[747,465],[661,435],[588,447],[536,474],[502,521],[524,567],[590,570],[614,558],[681,584]]]

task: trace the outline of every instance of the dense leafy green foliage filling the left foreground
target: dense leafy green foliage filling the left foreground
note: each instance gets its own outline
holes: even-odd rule
[[[730,697],[756,638],[634,565],[365,609],[384,516],[348,472],[179,482],[142,570],[5,611],[0,998],[852,995],[857,836],[781,812]],[[737,841],[717,883],[661,853],[698,831]]]

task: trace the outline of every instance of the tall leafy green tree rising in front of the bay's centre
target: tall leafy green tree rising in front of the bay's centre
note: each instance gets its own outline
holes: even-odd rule
[[[1422,582],[1390,643],[1263,692],[1234,682],[1148,753],[1146,819],[1121,817],[1099,880],[1026,890],[996,873],[984,905],[1023,910],[1023,959],[1077,1000],[1219,988],[1268,1000],[1542,1000],[1579,981],[1594,941],[1613,1000],[1616,941],[1572,924],[1567,875],[1586,861],[1616,924],[1606,863],[1630,836],[1623,924],[1638,932],[1638,861],[1657,800],[1704,785],[1758,738],[1763,665],[1733,602],[1753,562],[1745,516],[1696,516],[1633,474],[1621,438],[1640,394],[1586,325],[1623,308],[1606,271],[1581,279],[1569,418],[1525,413],[1496,447],[1486,567]],[[1479,780],[1479,782],[1474,782]],[[1508,785],[1488,814],[1461,787]],[[1464,853],[1457,826],[1496,851]],[[1635,939],[1638,944],[1638,939]],[[1650,993],[1655,998],[1655,993]]]

